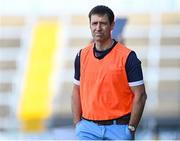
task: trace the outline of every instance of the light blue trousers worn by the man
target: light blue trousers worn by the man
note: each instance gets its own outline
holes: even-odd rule
[[[128,125],[97,125],[82,119],[76,124],[76,137],[79,140],[133,140],[134,134]]]

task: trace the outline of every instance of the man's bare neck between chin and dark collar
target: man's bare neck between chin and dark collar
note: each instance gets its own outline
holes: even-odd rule
[[[108,39],[105,42],[95,42],[96,49],[99,51],[107,50],[108,48],[111,48],[112,46],[112,39]]]

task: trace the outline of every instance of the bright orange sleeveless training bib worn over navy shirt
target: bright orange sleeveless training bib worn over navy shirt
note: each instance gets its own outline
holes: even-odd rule
[[[82,116],[90,120],[109,120],[131,112],[132,93],[125,63],[131,50],[120,43],[97,59],[93,44],[81,51],[80,96]]]

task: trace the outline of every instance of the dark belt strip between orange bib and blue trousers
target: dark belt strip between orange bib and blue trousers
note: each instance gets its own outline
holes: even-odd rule
[[[119,124],[129,124],[131,114],[124,115],[122,117],[116,118],[116,119],[110,119],[110,120],[90,120],[82,117],[82,119],[85,119],[87,121],[91,121],[96,123],[97,125],[119,125]]]

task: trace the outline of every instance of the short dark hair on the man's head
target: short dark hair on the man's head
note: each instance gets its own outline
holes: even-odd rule
[[[108,16],[110,24],[112,24],[112,22],[114,21],[114,13],[107,6],[98,5],[98,6],[95,6],[93,9],[91,9],[88,15],[89,21],[91,21],[91,15],[94,15],[94,14],[103,15],[103,16],[106,14]]]

